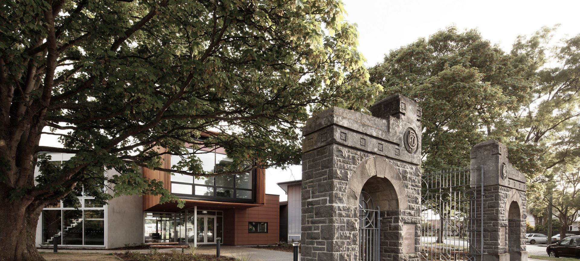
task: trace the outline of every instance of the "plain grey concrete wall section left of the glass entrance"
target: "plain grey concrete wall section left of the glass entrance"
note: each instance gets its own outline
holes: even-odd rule
[[[111,170],[107,174],[114,174]],[[143,198],[119,196],[106,205],[107,248],[119,248],[124,244],[143,243]]]

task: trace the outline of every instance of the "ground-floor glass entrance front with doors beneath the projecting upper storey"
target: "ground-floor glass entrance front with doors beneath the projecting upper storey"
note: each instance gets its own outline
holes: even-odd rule
[[[144,213],[144,242],[215,244],[222,237],[223,212],[186,210],[179,213]]]

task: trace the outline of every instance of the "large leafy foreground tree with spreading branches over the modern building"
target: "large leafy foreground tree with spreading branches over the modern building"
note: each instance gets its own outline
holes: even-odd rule
[[[380,88],[342,14],[339,0],[1,3],[0,260],[41,260],[39,214],[75,187],[175,201],[139,168],[208,174],[200,146],[226,149],[222,174],[299,163],[311,113],[364,110]],[[75,156],[56,167],[44,151]],[[183,160],[162,169],[163,154]]]

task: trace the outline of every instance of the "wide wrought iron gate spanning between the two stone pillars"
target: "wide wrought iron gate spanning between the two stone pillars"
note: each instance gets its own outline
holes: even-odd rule
[[[426,261],[478,261],[483,252],[483,187],[471,173],[450,169],[423,174],[421,251]],[[483,178],[483,173],[479,177]]]

